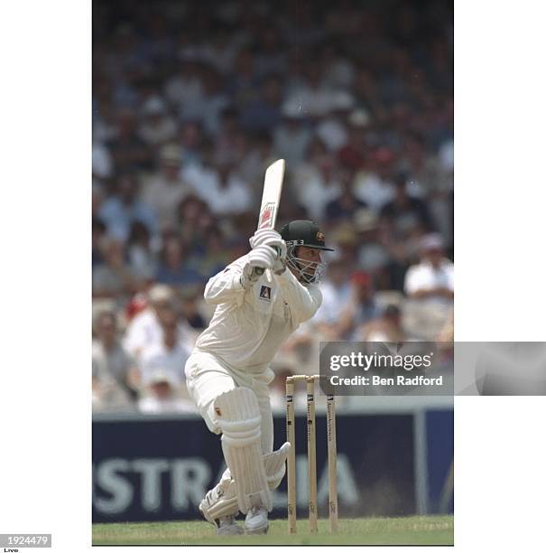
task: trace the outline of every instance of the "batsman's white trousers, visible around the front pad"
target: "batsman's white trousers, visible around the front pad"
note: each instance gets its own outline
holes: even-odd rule
[[[237,386],[252,389],[262,417],[262,454],[273,452],[273,415],[268,389],[274,376],[272,370],[257,375],[250,374],[230,367],[211,353],[194,350],[186,361],[185,372],[190,397],[195,401],[208,429],[215,434],[220,434],[220,428],[217,425],[214,400]]]

